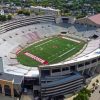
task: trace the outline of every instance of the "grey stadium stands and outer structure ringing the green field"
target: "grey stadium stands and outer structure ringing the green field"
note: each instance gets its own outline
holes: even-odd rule
[[[57,64],[34,68],[21,65],[16,54],[24,47],[40,39],[65,32],[65,36],[86,41],[81,53]],[[98,35],[98,38],[90,37]],[[30,37],[31,36],[31,37]],[[24,88],[31,88],[34,96],[42,99],[69,95],[79,91],[88,79],[100,72],[100,29],[76,23],[56,23],[51,15],[25,17],[0,26],[0,57],[3,59],[4,76],[23,76]],[[2,64],[1,64],[2,65]],[[7,75],[7,76],[8,76]],[[13,77],[12,77],[13,76]],[[1,80],[9,81],[1,75]],[[21,78],[22,79],[22,78]],[[13,92],[11,92],[13,95]]]

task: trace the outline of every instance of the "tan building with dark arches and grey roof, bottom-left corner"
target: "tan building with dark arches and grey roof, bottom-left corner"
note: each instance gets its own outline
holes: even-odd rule
[[[10,96],[12,100],[20,99],[22,93],[23,76],[0,74],[0,94]]]

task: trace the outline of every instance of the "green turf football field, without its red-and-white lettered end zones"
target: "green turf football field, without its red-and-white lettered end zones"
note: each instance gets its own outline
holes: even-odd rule
[[[77,43],[68,39],[63,39],[60,36],[52,37],[25,48],[17,55],[17,59],[21,64],[26,66],[35,67],[41,65],[40,62],[24,54],[24,52],[30,52],[48,61],[49,64],[53,64],[76,54],[83,48],[84,44],[85,42],[83,41]]]

